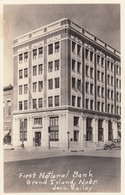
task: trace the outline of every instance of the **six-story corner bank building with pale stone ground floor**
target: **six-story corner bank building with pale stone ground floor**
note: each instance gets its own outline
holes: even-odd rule
[[[85,148],[118,138],[120,53],[68,18],[14,39],[13,144]]]

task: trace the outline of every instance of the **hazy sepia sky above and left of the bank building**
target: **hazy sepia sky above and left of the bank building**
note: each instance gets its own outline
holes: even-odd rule
[[[61,18],[76,24],[120,51],[119,4],[4,5],[4,81],[13,85],[13,39]]]

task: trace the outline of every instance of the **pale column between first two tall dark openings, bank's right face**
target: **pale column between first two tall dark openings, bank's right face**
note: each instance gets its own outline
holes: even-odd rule
[[[92,127],[93,127],[93,143],[98,142],[98,118],[94,118],[92,121]]]

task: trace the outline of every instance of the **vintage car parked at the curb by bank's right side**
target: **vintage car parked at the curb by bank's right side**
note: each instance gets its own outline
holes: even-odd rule
[[[104,145],[104,150],[112,150],[115,148],[121,148],[121,140],[120,139],[113,139],[112,141],[108,141]]]

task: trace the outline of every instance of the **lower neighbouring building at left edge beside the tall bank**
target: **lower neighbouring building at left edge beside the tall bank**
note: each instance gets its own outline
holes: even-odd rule
[[[3,88],[3,136],[4,143],[12,143],[13,86]]]

